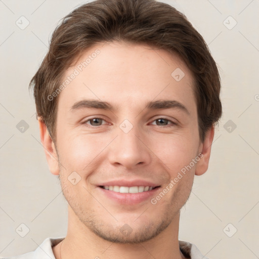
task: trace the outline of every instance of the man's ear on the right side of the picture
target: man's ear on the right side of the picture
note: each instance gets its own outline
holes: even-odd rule
[[[195,175],[201,176],[208,169],[208,162],[210,157],[211,145],[214,137],[214,126],[207,131],[206,137],[201,143],[200,152],[202,155],[200,156],[199,162],[196,164]]]

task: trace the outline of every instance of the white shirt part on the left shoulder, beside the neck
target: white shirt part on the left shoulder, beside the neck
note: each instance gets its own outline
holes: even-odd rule
[[[63,239],[64,237],[46,238],[34,251],[12,257],[2,257],[2,259],[55,259],[52,247]]]

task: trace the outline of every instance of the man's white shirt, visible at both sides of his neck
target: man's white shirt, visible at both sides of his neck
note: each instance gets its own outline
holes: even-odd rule
[[[61,238],[46,238],[35,251],[16,255],[4,259],[56,259],[52,247],[61,242],[64,237]],[[185,241],[179,241],[179,246],[182,253],[191,259],[208,259],[203,256],[198,248],[191,243]]]

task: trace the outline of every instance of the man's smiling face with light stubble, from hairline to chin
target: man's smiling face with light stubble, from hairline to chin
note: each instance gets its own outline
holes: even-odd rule
[[[96,49],[100,53],[83,67]],[[100,237],[149,240],[178,217],[193,184],[198,162],[169,187],[202,148],[193,77],[176,55],[118,42],[87,50],[64,81],[72,73],[76,76],[60,93],[57,112],[64,196],[74,217]],[[87,100],[106,102],[113,110],[91,108]],[[173,105],[145,107],[165,100]],[[143,191],[140,186],[156,188],[118,192]],[[167,193],[156,198],[166,187]]]

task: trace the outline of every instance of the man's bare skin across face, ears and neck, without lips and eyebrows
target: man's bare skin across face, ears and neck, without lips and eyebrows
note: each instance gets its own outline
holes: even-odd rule
[[[214,136],[212,126],[200,142],[193,76],[177,55],[144,44],[106,42],[85,51],[64,79],[96,49],[100,54],[59,94],[55,144],[39,119],[50,171],[60,176],[68,202],[62,259],[185,258],[178,241],[180,209],[194,175],[208,168]],[[171,76],[176,68],[185,73],[180,81]],[[109,102],[115,110],[71,111],[83,99]],[[178,101],[189,114],[180,108],[145,109],[146,102],[156,100]],[[119,127],[125,119],[133,125],[128,133]],[[155,205],[150,202],[153,196],[119,204],[97,187],[123,178],[148,180],[162,190],[199,153],[203,157]],[[72,171],[81,177],[76,185],[68,181]],[[128,235],[120,232],[124,224],[132,229]],[[60,245],[53,248],[57,259]]]

